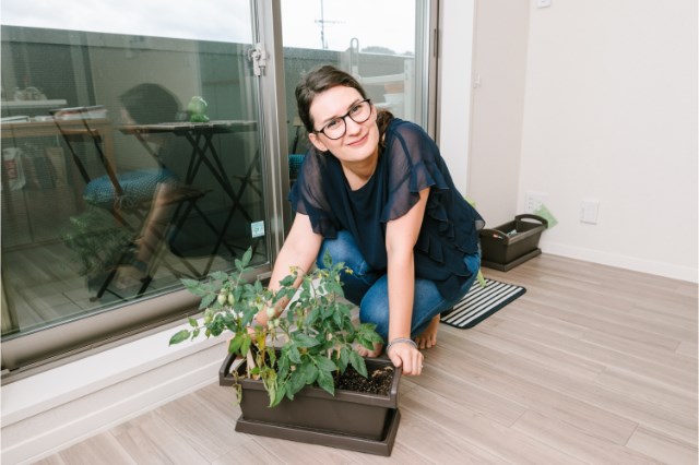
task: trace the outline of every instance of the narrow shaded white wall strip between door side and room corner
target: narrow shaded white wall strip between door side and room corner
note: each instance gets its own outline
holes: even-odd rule
[[[529,13],[523,1],[476,1],[466,193],[488,227],[518,213]]]

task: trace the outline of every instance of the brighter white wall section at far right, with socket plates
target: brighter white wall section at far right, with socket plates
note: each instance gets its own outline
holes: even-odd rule
[[[542,249],[697,281],[696,0],[531,3],[519,210],[548,193]]]

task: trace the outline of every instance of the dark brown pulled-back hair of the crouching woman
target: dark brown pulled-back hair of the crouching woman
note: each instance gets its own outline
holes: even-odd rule
[[[356,88],[362,98],[367,98],[367,93],[362,84],[348,74],[331,64],[323,64],[304,75],[296,86],[296,106],[298,108],[298,117],[304,122],[309,133],[315,132],[313,119],[310,116],[310,106],[318,94],[321,94],[332,87],[339,85]],[[393,119],[390,111],[380,110],[377,115],[377,124],[379,127],[379,135],[383,135],[389,122]],[[383,138],[381,138],[383,139]]]

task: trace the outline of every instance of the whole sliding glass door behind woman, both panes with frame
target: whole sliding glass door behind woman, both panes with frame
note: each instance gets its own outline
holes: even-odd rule
[[[335,63],[434,133],[435,1],[0,8],[3,382],[197,313],[181,279],[248,249],[269,274],[306,70]]]

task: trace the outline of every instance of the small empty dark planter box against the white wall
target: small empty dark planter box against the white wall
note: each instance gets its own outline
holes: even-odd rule
[[[542,253],[538,239],[548,222],[538,215],[517,215],[513,222],[481,230],[483,266],[509,271]]]

